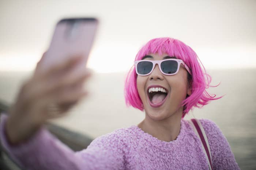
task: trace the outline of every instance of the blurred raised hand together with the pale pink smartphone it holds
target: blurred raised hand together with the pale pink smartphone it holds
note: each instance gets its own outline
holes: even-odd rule
[[[97,23],[91,19],[88,22],[64,19],[57,24],[49,50],[38,62],[32,78],[23,83],[10,107],[5,126],[10,144],[26,141],[47,119],[63,116],[87,95],[87,91],[81,90],[81,84],[90,76],[85,65],[96,27]],[[58,105],[57,114],[49,110],[52,104]]]

